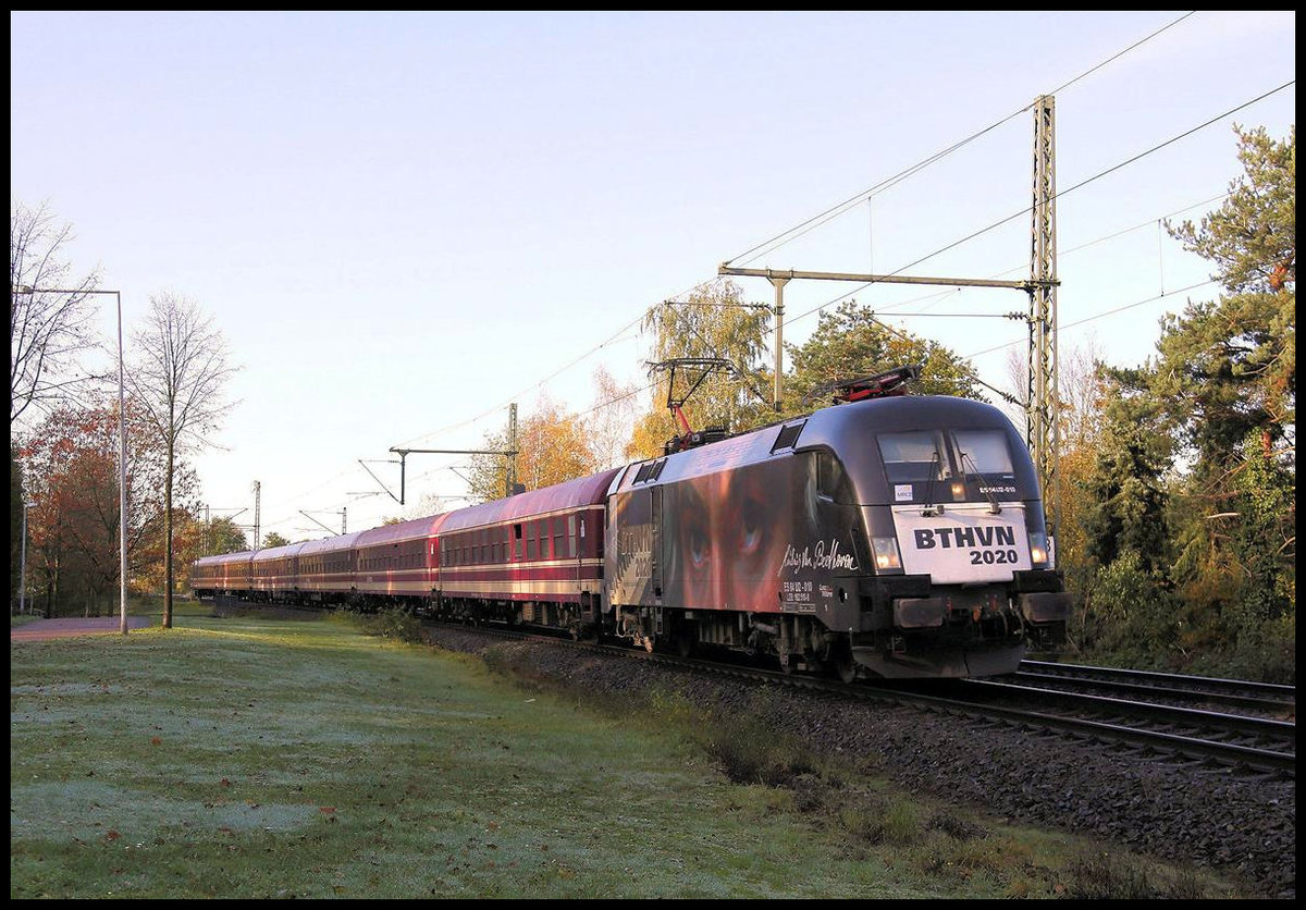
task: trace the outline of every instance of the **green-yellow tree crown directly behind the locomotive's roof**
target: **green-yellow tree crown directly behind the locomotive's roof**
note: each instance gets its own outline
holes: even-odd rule
[[[832,383],[921,364],[913,390],[987,401],[968,362],[925,338],[891,329],[875,313],[845,300],[820,315],[816,330],[802,345],[786,345],[790,372],[785,379],[785,413],[797,416],[831,403],[820,393]]]

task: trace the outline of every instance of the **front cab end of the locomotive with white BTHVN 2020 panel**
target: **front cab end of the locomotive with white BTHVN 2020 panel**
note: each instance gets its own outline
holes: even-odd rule
[[[818,541],[852,525],[866,556],[855,607],[827,620],[849,629],[858,667],[996,675],[1016,670],[1027,642],[1064,638],[1070,595],[1038,479],[998,409],[932,396],[857,402],[812,415],[799,447],[816,454],[827,503]]]

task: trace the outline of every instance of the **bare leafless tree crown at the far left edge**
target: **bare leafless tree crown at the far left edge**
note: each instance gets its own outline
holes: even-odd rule
[[[86,291],[99,283],[99,273],[72,277],[72,266],[63,259],[72,239],[72,227],[56,225],[44,205],[29,209],[16,204],[10,210],[10,426],[29,407],[51,407],[65,400],[80,381],[68,372],[93,345],[95,312]]]

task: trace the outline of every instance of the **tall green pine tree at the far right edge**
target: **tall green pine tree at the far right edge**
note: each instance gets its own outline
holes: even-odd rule
[[[1152,393],[1188,466],[1175,578],[1246,627],[1296,603],[1297,129],[1234,132],[1228,198],[1170,228],[1225,294],[1165,320]]]

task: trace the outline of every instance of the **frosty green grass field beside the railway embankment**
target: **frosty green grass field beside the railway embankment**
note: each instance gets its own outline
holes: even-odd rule
[[[801,807],[731,783],[683,712],[632,725],[345,618],[179,604],[12,644],[9,674],[12,898],[1224,892],[900,798]]]

